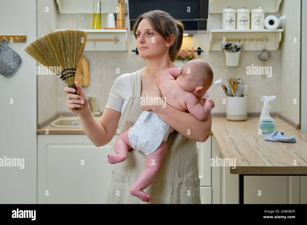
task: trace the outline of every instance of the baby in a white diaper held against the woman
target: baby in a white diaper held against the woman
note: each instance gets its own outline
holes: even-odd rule
[[[158,86],[164,101],[172,107],[188,111],[197,119],[204,121],[214,107],[212,99],[206,98],[204,104],[199,98],[204,96],[212,85],[213,73],[208,63],[193,59],[182,69],[168,68],[160,75]],[[167,153],[167,138],[174,129],[153,111],[143,111],[134,126],[122,133],[116,140],[114,151],[108,155],[111,164],[120,163],[127,158],[128,150],[133,148],[145,154],[145,169],[130,189],[130,194],[141,201],[150,202],[151,197],[143,191],[156,178]]]

